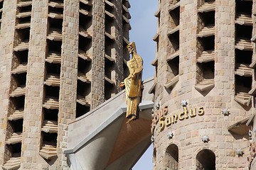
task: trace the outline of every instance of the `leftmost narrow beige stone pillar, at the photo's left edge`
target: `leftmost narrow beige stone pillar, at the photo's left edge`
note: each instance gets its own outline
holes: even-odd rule
[[[7,128],[7,114],[9,107],[9,89],[11,82],[11,59],[12,49],[14,46],[14,27],[15,27],[15,15],[16,15],[16,1],[4,1],[4,8],[1,21],[1,64],[0,64],[0,125],[1,125],[1,139],[0,139],[0,164],[4,164],[5,154],[5,140],[6,128]],[[6,17],[8,16],[8,17]],[[5,41],[3,41],[3,39]],[[4,50],[3,50],[4,49]]]

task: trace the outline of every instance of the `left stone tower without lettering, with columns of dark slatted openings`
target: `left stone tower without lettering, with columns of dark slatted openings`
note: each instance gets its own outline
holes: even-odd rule
[[[120,91],[128,0],[0,0],[0,169],[65,169],[69,120]]]

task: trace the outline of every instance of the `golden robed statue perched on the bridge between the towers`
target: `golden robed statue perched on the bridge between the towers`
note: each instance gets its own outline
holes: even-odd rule
[[[137,108],[139,106],[140,97],[142,96],[142,57],[137,54],[136,46],[134,42],[127,45],[129,54],[132,54],[132,59],[127,62],[129,69],[129,76],[124,79],[119,86],[125,86],[125,92],[127,96],[127,114],[126,118],[129,120],[127,123],[138,118]]]

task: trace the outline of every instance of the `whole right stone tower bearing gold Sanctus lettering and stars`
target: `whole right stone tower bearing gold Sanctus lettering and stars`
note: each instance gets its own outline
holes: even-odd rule
[[[154,169],[250,167],[255,6],[255,0],[159,0]]]

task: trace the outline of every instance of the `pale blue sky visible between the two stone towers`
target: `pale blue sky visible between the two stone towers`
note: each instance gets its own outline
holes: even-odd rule
[[[151,66],[156,51],[156,42],[152,40],[156,34],[157,0],[129,0],[131,8],[129,12],[132,16],[130,20],[132,30],[130,30],[129,41],[136,42],[137,53],[144,60],[143,79],[154,76],[154,67]],[[139,162],[132,170],[152,169],[152,146],[146,150]]]

